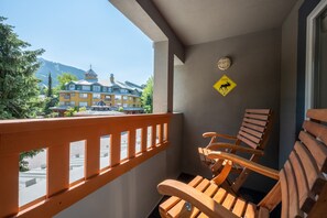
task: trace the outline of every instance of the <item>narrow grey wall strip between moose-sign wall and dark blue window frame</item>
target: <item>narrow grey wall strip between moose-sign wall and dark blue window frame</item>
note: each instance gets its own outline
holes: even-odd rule
[[[296,74],[298,0],[282,25],[280,167],[296,140]]]

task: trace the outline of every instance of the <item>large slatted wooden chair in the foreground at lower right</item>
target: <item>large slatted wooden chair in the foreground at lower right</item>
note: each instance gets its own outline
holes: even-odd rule
[[[195,177],[188,185],[167,179],[159,184],[163,195],[171,195],[160,206],[162,217],[269,217],[282,201],[281,217],[326,217],[327,208],[327,109],[308,110],[299,141],[277,172],[231,153],[210,152],[209,157],[239,163],[277,181],[258,204],[246,201],[215,183]],[[182,198],[182,199],[179,199]]]

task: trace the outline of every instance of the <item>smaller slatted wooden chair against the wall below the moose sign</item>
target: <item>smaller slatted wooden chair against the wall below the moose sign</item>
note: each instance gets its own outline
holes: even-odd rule
[[[226,165],[224,160],[212,160],[207,156],[208,151],[225,151],[230,153],[244,152],[250,153],[250,161],[258,162],[264,154],[265,145],[272,130],[272,110],[270,109],[247,109],[242,124],[237,137],[220,134],[216,132],[206,132],[204,138],[211,138],[206,148],[198,148],[201,162],[207,165],[212,174],[212,181],[220,185],[225,182],[229,189],[237,193],[249,176],[249,170],[240,164],[232,163],[232,166]],[[219,139],[230,140],[231,143],[217,142]],[[233,181],[226,179],[229,173],[239,174]]]

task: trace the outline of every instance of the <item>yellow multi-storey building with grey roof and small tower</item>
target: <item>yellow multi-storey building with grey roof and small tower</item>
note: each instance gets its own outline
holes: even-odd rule
[[[98,75],[91,69],[85,73],[85,79],[69,81],[65,90],[59,91],[59,107],[63,111],[69,107],[86,107],[88,110],[121,110],[126,113],[143,112],[141,108],[142,87],[130,81],[116,81],[113,74],[109,83],[98,81]]]

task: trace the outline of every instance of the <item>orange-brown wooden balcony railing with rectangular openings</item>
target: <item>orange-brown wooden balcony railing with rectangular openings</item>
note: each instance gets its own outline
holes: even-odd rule
[[[0,121],[0,217],[52,217],[69,207],[165,150],[170,119],[165,113]],[[100,168],[103,135],[110,135],[110,163]],[[69,183],[69,144],[76,141],[85,142],[84,176]],[[44,148],[46,194],[20,206],[20,153]]]

